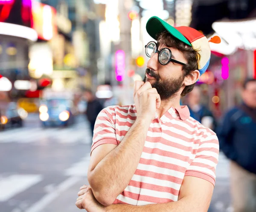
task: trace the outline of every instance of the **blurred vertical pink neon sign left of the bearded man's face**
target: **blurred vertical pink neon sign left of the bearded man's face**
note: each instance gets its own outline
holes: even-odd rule
[[[116,80],[122,81],[125,78],[125,52],[123,50],[116,51]]]

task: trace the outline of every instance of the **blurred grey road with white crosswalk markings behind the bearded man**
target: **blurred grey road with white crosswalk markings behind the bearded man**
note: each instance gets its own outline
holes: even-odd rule
[[[0,132],[0,212],[78,212],[87,184],[90,127],[84,117],[68,128],[40,126],[30,114],[23,128]],[[228,162],[220,155],[209,212],[232,212]]]

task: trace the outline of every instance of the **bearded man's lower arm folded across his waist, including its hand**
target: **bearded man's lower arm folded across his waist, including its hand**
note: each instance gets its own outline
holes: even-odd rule
[[[94,198],[90,187],[81,187],[76,205],[87,212],[207,212],[213,185],[201,178],[186,176],[180,188],[179,200],[164,204],[103,206]]]

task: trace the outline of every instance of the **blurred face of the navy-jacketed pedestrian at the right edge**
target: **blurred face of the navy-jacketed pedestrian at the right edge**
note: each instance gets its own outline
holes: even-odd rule
[[[247,83],[242,92],[242,98],[247,106],[256,108],[256,81]]]

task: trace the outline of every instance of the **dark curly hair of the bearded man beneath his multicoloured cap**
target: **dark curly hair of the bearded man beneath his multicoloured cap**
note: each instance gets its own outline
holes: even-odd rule
[[[160,32],[157,35],[157,41],[160,41],[168,47],[177,48],[177,50],[183,53],[183,56],[187,60],[187,64],[183,65],[183,77],[192,75],[192,72],[198,70],[198,61],[200,60],[199,50],[193,49],[192,46],[187,45],[186,43],[178,40],[168,31]],[[195,83],[192,85],[187,85],[181,93],[181,96],[185,96],[187,93],[193,90]]]

